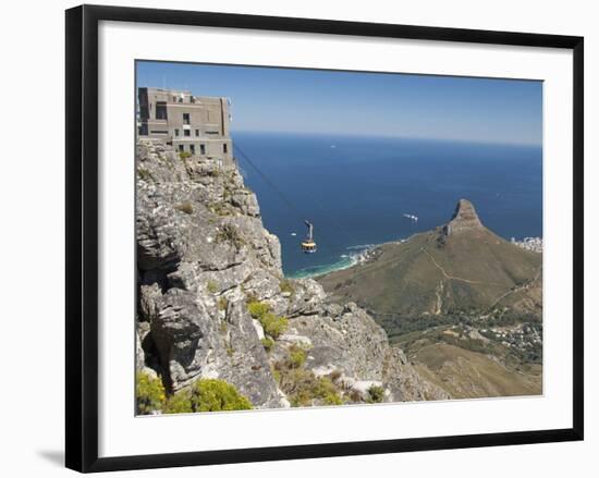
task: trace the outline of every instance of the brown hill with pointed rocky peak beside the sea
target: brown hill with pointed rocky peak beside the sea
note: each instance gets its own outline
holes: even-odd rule
[[[376,316],[419,317],[489,311],[510,306],[541,310],[542,256],[482,225],[461,199],[452,219],[402,243],[380,246],[366,263],[319,278],[337,299],[352,299]]]

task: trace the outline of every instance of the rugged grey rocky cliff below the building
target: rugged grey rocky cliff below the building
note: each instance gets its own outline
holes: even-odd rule
[[[297,399],[290,377],[326,377],[343,402],[368,401],[372,387],[383,391],[377,401],[448,397],[363,309],[283,277],[279,240],[236,168],[151,140],[139,142],[136,161],[137,367],[169,392],[219,378],[255,407],[321,404],[325,394]],[[265,333],[249,304],[285,327]]]

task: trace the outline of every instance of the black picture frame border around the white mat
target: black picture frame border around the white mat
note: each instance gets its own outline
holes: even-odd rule
[[[197,25],[573,51],[573,427],[453,437],[98,457],[98,24]],[[66,11],[66,467],[88,473],[583,440],[584,39],[330,20],[82,5]]]

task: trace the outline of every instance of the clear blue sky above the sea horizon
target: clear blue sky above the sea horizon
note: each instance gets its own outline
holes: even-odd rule
[[[542,143],[541,82],[138,62],[137,83],[230,97],[233,133]]]

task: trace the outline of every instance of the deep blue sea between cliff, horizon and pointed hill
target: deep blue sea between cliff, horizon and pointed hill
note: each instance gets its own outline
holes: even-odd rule
[[[280,133],[233,139],[266,176],[235,151],[289,277],[347,267],[365,247],[443,224],[460,198],[508,240],[542,236],[540,147]],[[301,250],[304,219],[314,223],[316,254]]]

